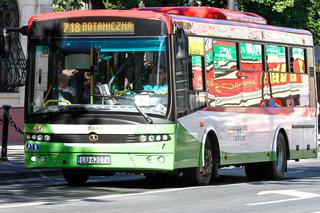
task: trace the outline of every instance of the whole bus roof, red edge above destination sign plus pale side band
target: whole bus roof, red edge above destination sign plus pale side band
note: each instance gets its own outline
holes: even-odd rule
[[[181,23],[191,35],[256,40],[265,42],[313,45],[307,30],[267,25],[266,20],[254,13],[231,11],[213,7],[147,7],[131,10],[77,10],[34,15],[34,22],[82,17],[127,17],[163,20],[172,34],[173,24]],[[193,33],[192,33],[193,32]]]

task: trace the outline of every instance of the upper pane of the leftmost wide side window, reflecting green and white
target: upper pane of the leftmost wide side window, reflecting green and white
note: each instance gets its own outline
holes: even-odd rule
[[[214,69],[220,71],[237,70],[237,44],[227,41],[213,41]]]

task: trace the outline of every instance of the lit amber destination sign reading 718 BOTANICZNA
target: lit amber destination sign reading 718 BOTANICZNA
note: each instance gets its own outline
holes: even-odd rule
[[[134,23],[131,21],[64,22],[63,33],[134,34]]]

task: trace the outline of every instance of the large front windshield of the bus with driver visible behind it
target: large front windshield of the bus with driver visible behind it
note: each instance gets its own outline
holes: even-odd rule
[[[31,44],[29,115],[79,109],[166,115],[166,37],[50,38]]]

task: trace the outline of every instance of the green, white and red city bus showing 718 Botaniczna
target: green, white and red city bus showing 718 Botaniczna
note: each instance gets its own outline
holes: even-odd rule
[[[219,169],[279,180],[317,157],[312,34],[212,7],[82,10],[28,23],[25,167],[72,185]],[[166,180],[166,179],[163,179]]]

